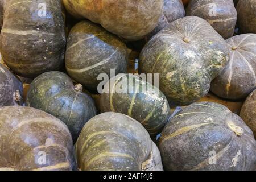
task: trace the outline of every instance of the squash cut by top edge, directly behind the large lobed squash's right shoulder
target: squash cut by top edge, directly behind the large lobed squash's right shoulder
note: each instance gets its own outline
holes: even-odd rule
[[[234,34],[237,11],[233,0],[191,0],[186,13],[207,20],[224,39]]]

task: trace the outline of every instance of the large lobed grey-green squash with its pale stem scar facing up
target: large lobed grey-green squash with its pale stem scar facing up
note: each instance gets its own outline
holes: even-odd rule
[[[144,46],[139,72],[159,73],[159,89],[168,100],[187,105],[208,93],[228,60],[225,40],[204,19],[187,16]]]

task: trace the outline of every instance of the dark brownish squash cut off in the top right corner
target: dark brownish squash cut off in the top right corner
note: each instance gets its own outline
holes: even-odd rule
[[[237,24],[243,33],[256,34],[256,1],[242,0],[237,3]]]

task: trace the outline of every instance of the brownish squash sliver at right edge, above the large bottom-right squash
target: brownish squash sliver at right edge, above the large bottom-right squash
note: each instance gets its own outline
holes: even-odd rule
[[[246,98],[242,106],[240,117],[253,130],[256,138],[256,89]]]

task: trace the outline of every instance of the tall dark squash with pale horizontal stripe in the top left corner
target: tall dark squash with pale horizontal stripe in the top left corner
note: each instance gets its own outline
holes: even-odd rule
[[[1,54],[17,75],[34,78],[64,63],[65,29],[56,0],[8,0],[1,31]]]

